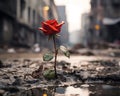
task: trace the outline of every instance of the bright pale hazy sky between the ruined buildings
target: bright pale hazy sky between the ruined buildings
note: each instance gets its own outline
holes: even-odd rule
[[[81,29],[81,14],[89,12],[90,0],[55,0],[56,5],[65,5],[69,31]]]

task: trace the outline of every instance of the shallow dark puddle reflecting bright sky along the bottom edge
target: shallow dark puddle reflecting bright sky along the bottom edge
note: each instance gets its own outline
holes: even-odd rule
[[[120,84],[75,84],[64,87],[32,88],[3,96],[120,96]]]

